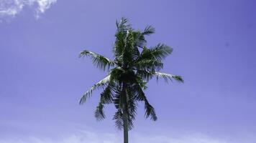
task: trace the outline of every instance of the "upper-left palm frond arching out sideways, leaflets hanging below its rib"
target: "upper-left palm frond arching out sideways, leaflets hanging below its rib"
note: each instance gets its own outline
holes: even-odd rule
[[[83,50],[80,53],[80,57],[81,56],[91,56],[93,64],[102,70],[106,70],[109,69],[110,66],[114,66],[114,61],[111,61],[111,59],[108,59],[104,56],[101,56],[100,54],[96,54],[91,51]]]

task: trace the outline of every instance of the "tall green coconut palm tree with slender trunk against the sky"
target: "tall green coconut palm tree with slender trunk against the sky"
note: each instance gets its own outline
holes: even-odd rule
[[[116,21],[116,27],[114,60],[92,51],[81,51],[80,56],[91,56],[96,67],[109,73],[83,94],[80,104],[91,97],[93,90],[103,89],[95,117],[97,120],[104,119],[104,106],[114,104],[116,112],[113,119],[116,127],[124,130],[124,143],[128,143],[128,130],[133,127],[138,102],[144,102],[146,118],[157,120],[155,109],[144,93],[147,82],[153,77],[163,78],[165,82],[172,79],[183,82],[183,79],[160,72],[160,69],[163,69],[163,59],[171,54],[173,49],[165,44],[147,47],[145,36],[154,33],[152,26],[147,26],[144,31],[137,31],[132,29],[127,19],[122,18],[120,22]]]

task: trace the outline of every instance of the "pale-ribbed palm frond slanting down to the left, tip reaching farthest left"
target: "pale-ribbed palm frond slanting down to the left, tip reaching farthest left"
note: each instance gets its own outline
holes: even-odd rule
[[[91,97],[93,90],[106,87],[106,84],[108,84],[110,81],[110,77],[111,77],[111,75],[109,74],[107,77],[105,77],[101,81],[97,82],[96,84],[93,85],[93,87],[88,89],[88,91],[85,94],[83,94],[83,97],[81,97],[79,103],[83,104],[84,102],[86,102],[86,99],[88,97]]]

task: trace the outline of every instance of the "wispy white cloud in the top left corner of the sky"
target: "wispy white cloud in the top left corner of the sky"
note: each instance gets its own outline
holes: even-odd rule
[[[25,6],[35,11],[36,18],[57,0],[0,0],[0,16],[16,16]]]

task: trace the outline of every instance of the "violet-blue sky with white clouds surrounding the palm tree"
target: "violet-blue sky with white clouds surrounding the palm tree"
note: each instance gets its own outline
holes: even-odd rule
[[[114,106],[93,117],[102,79],[83,49],[112,58],[115,21],[152,25],[148,46],[173,54],[163,71],[185,83],[152,80],[146,91],[158,120],[139,104],[133,143],[256,142],[256,1],[0,0],[0,143],[117,143]]]

